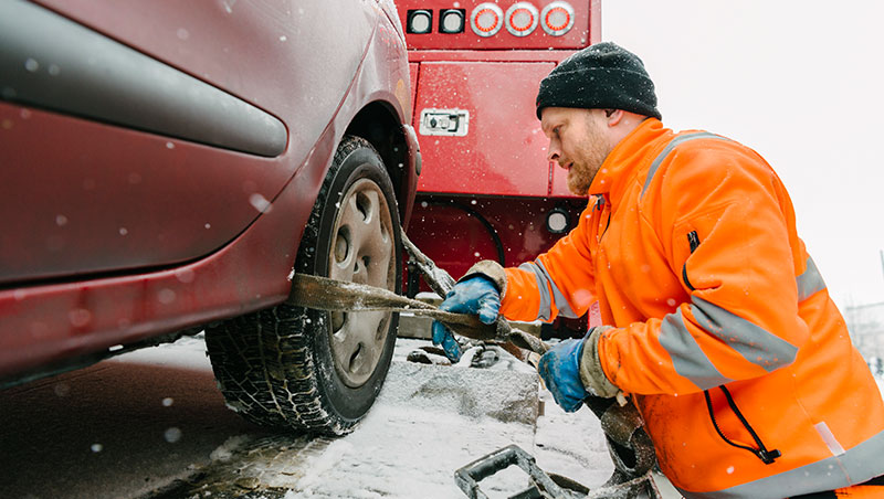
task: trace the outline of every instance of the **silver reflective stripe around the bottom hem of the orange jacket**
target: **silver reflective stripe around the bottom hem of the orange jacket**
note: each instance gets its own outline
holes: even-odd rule
[[[884,432],[840,456],[818,460],[778,475],[715,492],[688,492],[694,499],[780,499],[788,496],[834,490],[862,484],[881,475],[881,456],[884,456]]]

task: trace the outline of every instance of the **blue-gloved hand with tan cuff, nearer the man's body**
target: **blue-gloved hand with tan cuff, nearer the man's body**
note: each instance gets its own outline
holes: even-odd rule
[[[565,412],[580,408],[589,395],[608,399],[619,391],[608,381],[599,362],[597,346],[606,329],[592,328],[581,340],[561,341],[540,358],[537,371]]]

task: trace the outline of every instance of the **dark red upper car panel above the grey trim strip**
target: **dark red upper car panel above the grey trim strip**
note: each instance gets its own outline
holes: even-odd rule
[[[375,0],[39,3],[280,117],[288,151],[302,157],[346,94],[379,14]]]

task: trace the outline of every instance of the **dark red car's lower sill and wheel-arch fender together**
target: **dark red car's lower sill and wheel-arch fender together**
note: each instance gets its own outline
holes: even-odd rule
[[[285,300],[306,219],[354,116],[369,103],[380,102],[399,124],[410,120],[404,46],[392,26],[382,24],[361,71],[304,163],[296,166],[270,209],[220,251],[168,269],[0,289],[0,386],[17,383],[23,373],[42,375],[53,365],[64,369],[70,359],[97,359],[116,344]],[[389,71],[380,70],[387,64]],[[0,103],[0,112],[4,106]],[[11,116],[23,110],[7,107]],[[417,183],[417,149],[409,152],[401,166],[408,170],[402,181],[409,185],[409,195],[399,200],[400,212],[410,212]]]

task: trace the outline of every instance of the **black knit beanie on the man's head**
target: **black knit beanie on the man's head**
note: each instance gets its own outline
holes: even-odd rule
[[[623,109],[661,119],[642,60],[611,42],[588,46],[556,66],[540,82],[538,119],[545,107]]]

